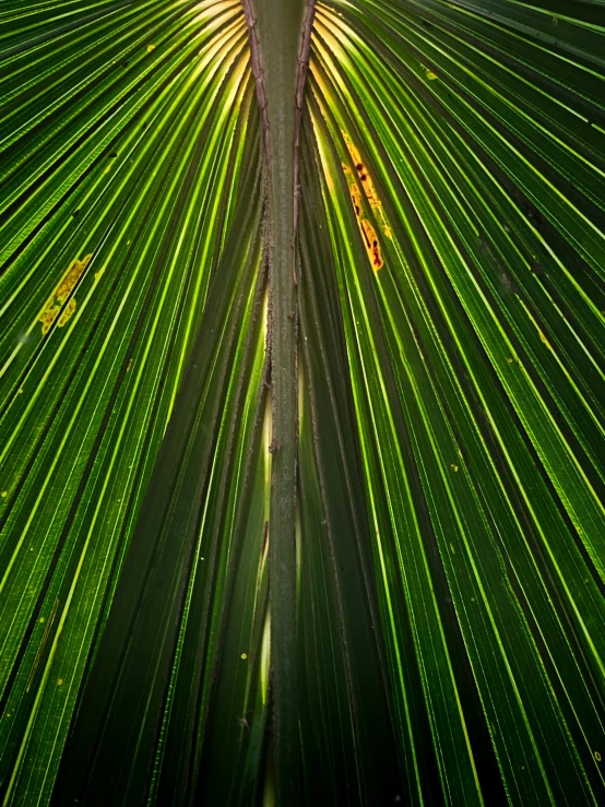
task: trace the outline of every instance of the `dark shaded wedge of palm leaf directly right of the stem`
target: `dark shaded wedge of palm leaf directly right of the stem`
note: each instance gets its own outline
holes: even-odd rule
[[[308,804],[389,804],[404,795],[404,760],[384,644],[375,630],[380,615],[371,577],[371,525],[364,507],[337,278],[322,237],[328,222],[313,170],[318,155],[309,142],[310,122],[305,120],[301,152],[307,192],[299,296],[304,793]]]

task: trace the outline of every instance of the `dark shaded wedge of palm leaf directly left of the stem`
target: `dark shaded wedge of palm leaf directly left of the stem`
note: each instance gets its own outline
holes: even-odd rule
[[[258,186],[247,182],[245,187],[248,193],[258,193]],[[258,229],[250,226],[254,212],[252,207],[244,218],[236,219],[241,233]],[[168,425],[116,589],[112,614],[121,616],[110,618],[107,624],[80,719],[70,737],[68,772],[55,792],[59,804],[74,798],[95,804],[140,799],[149,786],[150,751],[153,752],[158,740],[162,757],[156,797],[166,798],[162,796],[159,775],[166,770],[167,792],[178,799],[176,803],[194,795],[188,790],[195,782],[190,768],[199,764],[195,744],[204,740],[198,735],[211,731],[206,725],[207,692],[202,690],[195,696],[195,687],[200,683],[205,685],[204,689],[214,685],[214,667],[223,660],[224,645],[228,644],[223,640],[228,621],[222,593],[223,586],[233,590],[230,578],[237,573],[241,559],[241,522],[245,526],[254,515],[251,523],[256,530],[246,533],[250,538],[245,556],[256,545],[258,563],[264,534],[262,497],[260,507],[252,513],[246,507],[250,502],[247,488],[251,476],[247,466],[253,456],[249,442],[253,439],[258,447],[260,440],[258,427],[248,424],[259,420],[254,410],[260,406],[262,416],[264,406],[262,401],[259,404],[256,400],[247,401],[245,394],[247,385],[256,379],[254,399],[259,395],[262,351],[260,361],[254,353],[262,333],[264,277],[258,272],[258,241],[242,238],[238,229],[233,230],[232,238],[236,245],[229,244],[228,264],[221,265],[226,278],[232,278],[228,285],[236,298],[225,296],[220,284],[214,284],[210,293],[207,313],[192,348],[175,417]],[[224,456],[218,467],[216,456]],[[262,490],[264,474],[262,467],[259,471]],[[234,497],[237,506],[233,503]],[[258,585],[261,586],[260,581]],[[225,598],[230,602],[226,594]],[[253,621],[253,610],[248,613]],[[238,637],[239,646],[246,649],[250,637],[239,618],[236,624],[244,634]],[[230,665],[239,664],[240,652],[228,657]],[[260,652],[251,654],[257,664],[259,655]],[[205,667],[201,680],[199,665]],[[232,733],[238,728],[237,712],[247,711],[241,692],[246,683],[247,676],[239,683],[241,700],[236,713],[233,713],[234,704],[228,703]],[[185,704],[182,693],[188,695]],[[218,708],[216,703],[212,705]],[[159,710],[164,711],[164,719],[158,737]],[[200,712],[201,726],[195,720]],[[178,721],[175,727],[173,719]],[[124,725],[130,726],[129,732]],[[222,729],[225,734],[224,724]],[[87,738],[97,733],[99,745],[95,747]],[[174,738],[173,733],[176,733]],[[118,747],[124,761],[119,769],[116,768]],[[170,766],[185,771],[180,798],[174,792],[179,780],[175,771],[170,772]],[[213,775],[216,773],[213,771]],[[218,781],[224,788],[233,780],[220,776]],[[204,786],[210,786],[207,776]]]

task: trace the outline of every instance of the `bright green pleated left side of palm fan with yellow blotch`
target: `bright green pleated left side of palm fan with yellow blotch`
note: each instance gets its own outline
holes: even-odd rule
[[[173,28],[166,20],[158,26],[145,9],[135,25],[126,9],[131,45],[119,46],[118,73],[110,58],[117,9],[103,20],[105,33],[98,19],[90,31],[79,28],[106,75],[107,131],[94,90],[72,123],[66,88],[74,79],[59,71],[62,126],[57,131],[51,91],[37,137],[16,141],[10,164],[17,168],[23,159],[36,188],[44,158],[50,168],[40,173],[46,191],[38,191],[51,204],[39,211],[29,188],[13,192],[17,170],[9,171],[3,195],[3,247],[13,244],[16,252],[2,280],[2,324],[11,334],[2,343],[2,779],[16,803],[48,802],[91,643],[241,190],[251,94],[239,8],[155,7]],[[60,24],[50,24],[56,36]],[[173,35],[165,49],[158,32]],[[54,52],[68,56],[62,45],[50,39],[38,50],[52,64]],[[83,75],[103,87],[90,68]],[[15,95],[15,114],[17,102],[23,106],[23,97]],[[66,158],[70,137],[81,147],[70,146]],[[39,147],[45,138],[52,151]],[[72,317],[43,335],[39,311],[72,259],[87,253],[93,258],[71,293]]]

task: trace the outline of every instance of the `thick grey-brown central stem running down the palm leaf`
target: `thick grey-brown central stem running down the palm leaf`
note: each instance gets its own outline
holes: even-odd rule
[[[270,608],[276,804],[300,792],[296,619],[298,132],[312,0],[242,0],[263,127],[273,405]]]

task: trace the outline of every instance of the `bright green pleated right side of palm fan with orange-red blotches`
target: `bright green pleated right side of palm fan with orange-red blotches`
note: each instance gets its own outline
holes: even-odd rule
[[[509,75],[508,106],[497,109],[494,59],[482,55],[481,74],[466,68],[456,75],[463,59],[479,60],[471,37],[466,43],[454,29],[454,38],[451,25],[440,26],[436,14],[416,15],[412,4],[373,3],[367,14],[364,7],[351,15],[347,8],[342,15],[318,11],[315,120],[324,144],[331,238],[342,261],[341,299],[402,725],[412,749],[419,748],[408,707],[416,692],[401,664],[408,644],[403,598],[446,798],[470,804],[482,793],[495,797],[494,771],[475,762],[485,739],[466,720],[473,686],[452,657],[460,652],[460,629],[508,798],[591,803],[603,786],[596,748],[603,600],[594,578],[603,558],[602,451],[595,451],[603,444],[603,418],[594,392],[601,379],[583,376],[580,367],[586,354],[598,366],[601,343],[584,330],[595,313],[588,290],[565,315],[554,299],[549,277],[566,275],[565,264],[557,271],[564,261],[548,236],[550,216],[561,224],[565,215],[569,223],[554,242],[568,240],[568,262],[569,244],[581,242],[596,271],[601,214],[588,200],[579,207],[576,199],[561,198],[547,166],[537,169],[546,138],[536,124],[546,127],[539,110],[532,108],[537,120],[530,126],[511,104]],[[430,11],[442,9],[435,3]],[[496,115],[499,128],[490,123]],[[358,189],[364,185],[347,141],[380,200],[372,204],[365,188],[360,215],[372,217],[384,260],[376,274],[352,221],[351,178]],[[583,157],[581,145],[576,139],[567,157],[559,150],[561,173],[569,164],[570,175],[581,176],[573,153]],[[591,168],[594,189],[600,179]],[[538,194],[541,212],[532,206]],[[578,285],[570,283],[568,295]],[[417,769],[412,800],[424,799],[427,779],[427,770]]]

